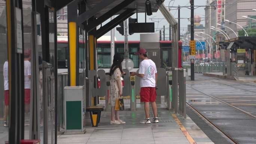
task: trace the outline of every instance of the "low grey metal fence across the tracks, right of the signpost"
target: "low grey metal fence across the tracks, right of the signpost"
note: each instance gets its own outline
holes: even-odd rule
[[[196,64],[195,73],[224,73],[226,68],[225,62],[212,62],[206,64]]]

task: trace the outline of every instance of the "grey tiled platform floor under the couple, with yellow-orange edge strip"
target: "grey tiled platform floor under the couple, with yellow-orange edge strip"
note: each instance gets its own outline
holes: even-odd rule
[[[166,110],[165,103],[157,104],[159,123],[140,124],[144,105],[137,105],[137,111],[120,111],[126,124],[111,125],[110,111],[103,111],[98,127],[91,127],[87,119],[85,134],[59,135],[58,144],[214,144],[188,116]]]

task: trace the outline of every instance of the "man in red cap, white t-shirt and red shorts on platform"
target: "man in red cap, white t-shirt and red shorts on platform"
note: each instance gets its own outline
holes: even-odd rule
[[[142,60],[140,62],[140,69],[138,73],[132,72],[131,76],[141,77],[140,79],[140,101],[144,102],[144,109],[146,118],[140,123],[151,123],[149,119],[149,102],[151,102],[153,109],[153,123],[158,123],[157,107],[156,107],[156,82],[157,82],[157,70],[156,64],[151,59],[147,58],[146,49],[140,48],[135,55],[139,55]]]

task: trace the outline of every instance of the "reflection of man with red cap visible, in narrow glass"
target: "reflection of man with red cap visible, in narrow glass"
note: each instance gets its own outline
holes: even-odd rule
[[[31,56],[29,50],[24,50],[24,91],[25,91],[25,113],[30,111],[30,79],[31,79]]]

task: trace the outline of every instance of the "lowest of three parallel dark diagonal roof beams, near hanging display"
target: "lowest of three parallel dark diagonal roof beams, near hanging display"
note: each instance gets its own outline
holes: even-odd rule
[[[134,14],[135,9],[127,9],[125,12],[121,13],[119,16],[114,18],[112,21],[105,24],[103,27],[98,29],[95,32],[95,37],[98,39],[104,34],[106,34],[108,31],[110,31],[112,28],[115,28],[120,22],[124,21],[125,19],[129,18]]]

